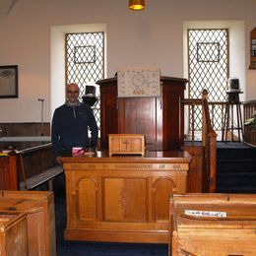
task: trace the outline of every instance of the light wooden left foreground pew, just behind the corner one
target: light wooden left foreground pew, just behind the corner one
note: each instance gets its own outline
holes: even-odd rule
[[[54,195],[52,192],[0,191],[0,211],[26,214],[30,256],[56,255]]]

